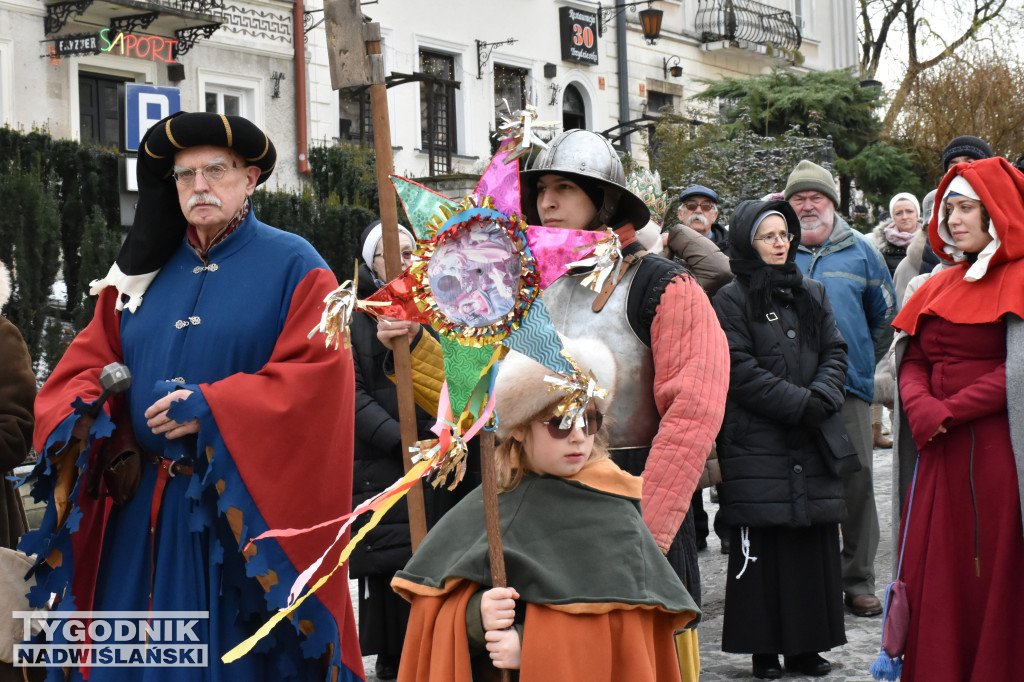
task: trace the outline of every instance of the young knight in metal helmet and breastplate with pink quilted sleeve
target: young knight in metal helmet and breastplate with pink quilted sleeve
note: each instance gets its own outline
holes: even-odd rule
[[[520,173],[520,186],[530,223],[610,227],[618,238],[623,266],[608,284],[592,291],[581,286],[588,270],[570,270],[544,291],[544,303],[559,333],[599,335],[612,349],[622,398],[609,414],[612,459],[643,476],[644,520],[699,602],[687,511],[724,411],[725,335],[692,273],[647,254],[637,242],[636,229],[647,224],[650,211],[626,187],[622,162],[605,137],[587,130],[561,133]]]

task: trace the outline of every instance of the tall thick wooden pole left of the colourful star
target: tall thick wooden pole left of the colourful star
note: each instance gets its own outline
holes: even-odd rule
[[[384,85],[384,68],[381,59],[381,32],[379,24],[365,24],[364,37],[367,43],[371,79],[370,110],[374,118],[374,153],[377,156],[377,193],[380,197],[381,227],[384,240],[384,271],[393,280],[402,271],[401,254],[398,245],[398,211],[395,206],[394,185],[391,172],[391,122],[387,109],[387,87]],[[394,371],[398,384],[398,420],[401,424],[402,464],[406,471],[413,467],[410,449],[419,440],[416,424],[416,399],[413,396],[413,364],[409,352],[409,337],[394,339]],[[409,504],[409,531],[413,540],[413,551],[420,546],[427,535],[427,517],[423,506],[423,486],[414,485],[407,496]]]

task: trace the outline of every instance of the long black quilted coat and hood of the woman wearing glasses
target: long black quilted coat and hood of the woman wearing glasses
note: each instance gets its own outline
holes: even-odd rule
[[[737,250],[745,257],[756,255],[750,233],[765,203],[744,204],[729,227],[734,258]],[[797,237],[791,259],[800,233],[796,215],[792,218],[790,231]],[[811,386],[826,401],[842,406],[846,342],[836,328],[824,287],[808,278],[803,283],[821,308],[817,353],[801,347],[792,305],[773,299],[777,319],[769,322],[768,315],[755,319],[749,290],[739,281],[719,290],[713,301],[729,340],[731,360],[729,396],[718,438],[723,478],[720,513],[729,525],[807,526],[836,523],[846,516],[843,482],[826,467],[824,458],[829,455],[818,445],[817,429],[801,423]]]

